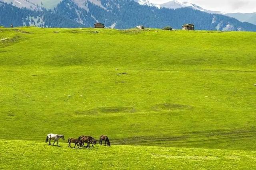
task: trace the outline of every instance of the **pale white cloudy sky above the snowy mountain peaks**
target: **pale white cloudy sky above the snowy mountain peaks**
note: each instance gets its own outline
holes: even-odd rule
[[[150,0],[154,4],[162,4],[171,0]],[[191,2],[207,10],[222,12],[256,12],[256,0],[177,0]]]

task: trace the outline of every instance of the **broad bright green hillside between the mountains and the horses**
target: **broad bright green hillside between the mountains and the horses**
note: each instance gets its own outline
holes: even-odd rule
[[[0,28],[0,139],[105,134],[113,144],[256,150],[255,40]]]

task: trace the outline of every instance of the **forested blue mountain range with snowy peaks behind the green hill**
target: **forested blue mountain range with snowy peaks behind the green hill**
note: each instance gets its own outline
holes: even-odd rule
[[[149,0],[0,0],[0,25],[39,27],[106,27],[127,29],[136,25],[181,29],[194,23],[196,29],[256,31],[256,25],[241,22],[220,12],[210,12],[188,2],[156,5]],[[8,3],[5,3],[8,2]],[[210,14],[214,13],[214,14]],[[222,15],[220,15],[222,14]],[[253,15],[252,15],[253,16]],[[251,16],[251,17],[252,17]]]

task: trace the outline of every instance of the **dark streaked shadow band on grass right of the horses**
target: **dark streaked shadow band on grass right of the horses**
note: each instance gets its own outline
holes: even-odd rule
[[[133,128],[133,126],[131,126]],[[201,144],[226,143],[252,139],[256,136],[254,127],[236,129],[215,129],[207,131],[191,131],[170,133],[169,136],[136,136],[130,138],[112,138],[115,145],[145,145],[162,147],[193,147]]]

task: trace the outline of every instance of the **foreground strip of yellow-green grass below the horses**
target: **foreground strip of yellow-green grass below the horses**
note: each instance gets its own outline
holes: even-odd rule
[[[0,141],[5,169],[243,169],[256,168],[256,153],[238,150],[95,145],[93,149],[42,142]]]

